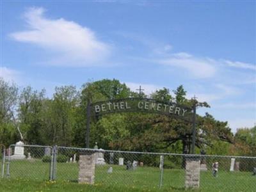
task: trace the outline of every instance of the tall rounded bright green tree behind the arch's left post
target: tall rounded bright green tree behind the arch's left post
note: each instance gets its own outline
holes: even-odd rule
[[[86,108],[89,100],[90,102],[97,102],[100,100],[127,98],[132,95],[130,89],[116,79],[103,79],[93,83],[86,83],[83,85],[81,93],[81,105],[78,110],[82,114],[82,119],[77,127],[78,131],[75,136],[77,138],[76,142],[79,141],[79,143],[85,143]],[[122,116],[125,115],[113,114],[94,119],[90,124],[90,146],[93,146],[97,141],[101,148],[109,148],[111,141],[115,141],[115,138],[122,138],[122,131],[115,130],[117,128],[115,124],[120,126],[124,125],[124,122],[122,122],[124,118],[122,118]],[[116,120],[116,118],[119,118],[119,120]],[[124,126],[119,128],[125,131],[122,127]],[[113,134],[107,136],[108,133]],[[106,140],[104,140],[104,138]],[[79,145],[79,143],[77,143],[77,145]]]

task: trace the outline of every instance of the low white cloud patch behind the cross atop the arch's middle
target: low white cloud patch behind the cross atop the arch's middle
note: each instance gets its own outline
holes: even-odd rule
[[[141,86],[141,89],[143,89],[143,93],[146,95],[150,95],[153,92],[156,92],[156,90],[160,90],[163,88],[162,86],[157,86],[155,84],[141,84],[141,83],[131,83],[127,82],[125,83],[131,90],[132,92],[139,92],[138,89]]]

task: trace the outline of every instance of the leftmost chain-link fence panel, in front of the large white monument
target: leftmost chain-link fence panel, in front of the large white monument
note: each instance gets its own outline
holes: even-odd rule
[[[10,145],[7,149],[6,177],[49,180],[52,177],[52,147]]]

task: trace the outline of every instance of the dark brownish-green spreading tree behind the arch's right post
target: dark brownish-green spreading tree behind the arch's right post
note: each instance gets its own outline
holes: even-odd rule
[[[174,90],[175,101],[185,106],[209,107],[206,102],[186,99],[186,91],[183,86]],[[172,99],[167,89],[159,90],[152,95],[158,100],[167,101]],[[129,115],[128,115],[129,116]],[[192,143],[192,125],[184,120],[170,118],[163,115],[134,115],[130,116],[132,124],[128,123],[131,135],[125,140],[116,142],[121,148],[126,147],[132,150],[156,151],[161,149],[182,149],[180,152],[189,154]],[[203,148],[212,146],[215,140],[232,142],[232,133],[227,122],[219,122],[211,115],[196,115],[196,147]],[[126,122],[127,123],[127,122]],[[178,144],[179,145],[178,145]],[[181,145],[181,146],[180,146]]]

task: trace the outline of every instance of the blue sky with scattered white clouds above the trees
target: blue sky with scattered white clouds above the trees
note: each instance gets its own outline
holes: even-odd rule
[[[1,1],[0,76],[20,88],[180,84],[233,132],[256,123],[256,1]]]

